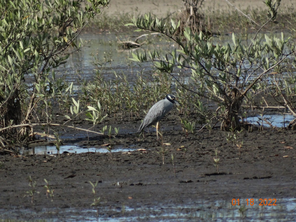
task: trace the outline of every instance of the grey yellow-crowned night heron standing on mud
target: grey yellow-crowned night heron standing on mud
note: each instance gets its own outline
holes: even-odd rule
[[[147,115],[141,123],[141,126],[139,127],[137,133],[141,132],[145,127],[149,127],[157,123],[156,135],[158,140],[158,122],[165,116],[165,114],[168,111],[170,111],[173,108],[174,104],[178,106],[180,105],[176,100],[175,96],[171,94],[167,94],[164,99],[155,103],[147,112]]]

